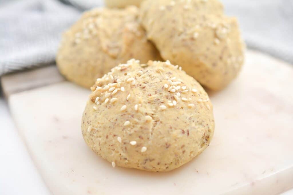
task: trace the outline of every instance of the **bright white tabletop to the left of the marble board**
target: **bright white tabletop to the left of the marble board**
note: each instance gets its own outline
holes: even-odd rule
[[[0,194],[49,195],[0,96]]]

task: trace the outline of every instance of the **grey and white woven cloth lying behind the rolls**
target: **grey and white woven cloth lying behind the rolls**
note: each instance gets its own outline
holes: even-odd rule
[[[239,18],[248,48],[293,63],[293,0],[223,3],[228,15]],[[20,0],[0,6],[0,75],[54,63],[62,32],[83,10],[101,5],[102,0]]]

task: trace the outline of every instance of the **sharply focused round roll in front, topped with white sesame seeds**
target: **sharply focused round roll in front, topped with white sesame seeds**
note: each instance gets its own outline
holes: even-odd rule
[[[115,165],[170,171],[207,148],[212,103],[201,85],[169,61],[120,64],[91,87],[82,135]]]

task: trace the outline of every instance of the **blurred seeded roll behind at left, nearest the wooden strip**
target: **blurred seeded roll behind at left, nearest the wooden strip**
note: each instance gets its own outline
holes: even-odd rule
[[[97,78],[130,58],[145,63],[161,59],[137,18],[135,6],[85,12],[63,35],[56,58],[60,72],[69,81],[89,88]]]

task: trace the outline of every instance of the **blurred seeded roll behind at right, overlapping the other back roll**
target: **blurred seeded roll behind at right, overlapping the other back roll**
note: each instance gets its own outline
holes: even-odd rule
[[[223,89],[239,73],[245,45],[238,22],[218,0],[146,0],[140,20],[162,58],[206,87]]]

